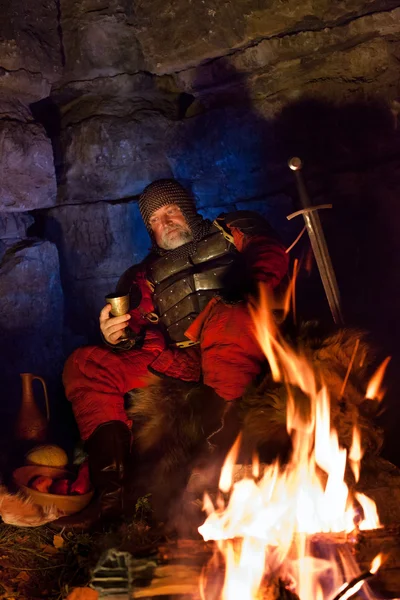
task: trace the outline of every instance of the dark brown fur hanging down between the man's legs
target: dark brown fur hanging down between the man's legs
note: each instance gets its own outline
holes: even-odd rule
[[[193,461],[207,453],[204,423],[213,414],[214,397],[211,390],[209,402],[199,398],[201,391],[201,386],[159,379],[126,398],[126,411],[134,424],[132,493],[150,493],[161,520],[171,519],[171,507],[180,504]],[[217,429],[219,419],[212,416],[211,421],[217,422]]]

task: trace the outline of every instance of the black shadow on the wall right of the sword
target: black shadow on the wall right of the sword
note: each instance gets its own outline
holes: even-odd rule
[[[345,323],[371,334],[377,360],[392,356],[381,422],[386,456],[400,464],[397,298],[400,294],[400,129],[383,102],[335,105],[315,99],[287,106],[276,121],[277,154],[300,156],[314,204],[321,211],[343,300]],[[304,245],[305,240],[302,241]],[[319,314],[324,302],[315,268],[302,277],[299,310]]]

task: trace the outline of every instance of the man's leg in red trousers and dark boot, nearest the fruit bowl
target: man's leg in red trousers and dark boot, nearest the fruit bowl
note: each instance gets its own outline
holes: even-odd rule
[[[63,375],[65,390],[85,440],[97,499],[76,517],[60,519],[59,526],[88,528],[124,512],[131,450],[124,394],[148,384],[152,376],[147,366],[159,352],[160,346],[151,343],[121,353],[89,346],[76,350],[68,359]]]

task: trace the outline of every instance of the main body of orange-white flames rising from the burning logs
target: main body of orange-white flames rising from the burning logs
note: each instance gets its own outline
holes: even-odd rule
[[[360,529],[380,527],[380,522],[374,502],[357,493],[354,504],[344,480],[347,460],[359,479],[362,446],[358,428],[354,428],[347,456],[331,428],[328,389],[305,353],[295,352],[282,338],[271,307],[263,288],[259,305],[249,309],[272,377],[288,392],[287,429],[292,457],[283,467],[278,462],[265,466],[261,477],[255,461],[253,476],[233,483],[239,437],[221,471],[220,489],[225,494],[230,492],[229,502],[225,506],[220,496],[214,507],[206,496],[208,517],[199,532],[206,541],[217,540],[225,557],[222,600],[256,600],[263,578],[274,573],[284,573],[302,600],[324,600],[319,578],[332,569],[332,563],[309,554],[310,536],[352,532],[360,521],[360,507]],[[357,349],[358,345],[353,360]],[[381,379],[383,372],[382,368]],[[309,403],[307,411],[301,410],[296,400],[298,390]],[[337,571],[339,577],[340,569]]]

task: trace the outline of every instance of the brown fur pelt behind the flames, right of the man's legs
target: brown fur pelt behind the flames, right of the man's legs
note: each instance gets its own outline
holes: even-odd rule
[[[354,329],[340,329],[320,337],[313,335],[311,324],[299,332],[299,350],[308,359],[319,385],[328,390],[331,407],[331,427],[336,429],[342,446],[350,448],[353,427],[361,430],[361,442],[370,452],[382,446],[382,431],[373,420],[376,402],[365,400],[367,372],[374,359],[374,351],[366,341],[366,334]],[[342,394],[343,382],[352,359],[354,362]],[[303,414],[309,410],[309,399],[299,389],[291,388],[297,409]],[[243,435],[253,440],[256,447],[268,443],[270,437],[282,430],[286,423],[287,389],[275,384],[267,375],[261,385],[247,391],[242,399]]]

